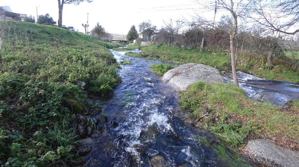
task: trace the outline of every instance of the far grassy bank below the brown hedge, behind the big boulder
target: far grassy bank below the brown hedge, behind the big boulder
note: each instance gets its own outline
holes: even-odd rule
[[[126,53],[127,56],[143,57],[147,59],[157,59],[166,62],[200,63],[215,67],[219,70],[230,70],[231,59],[228,54],[207,53],[197,49],[176,48],[166,45],[151,45],[142,47],[140,53]],[[275,79],[278,81],[287,81],[299,83],[299,71],[289,70],[284,65],[266,66],[266,59],[255,57],[247,63],[237,63],[237,69],[243,72],[252,72],[260,78]],[[263,67],[262,70],[254,68],[254,64]]]

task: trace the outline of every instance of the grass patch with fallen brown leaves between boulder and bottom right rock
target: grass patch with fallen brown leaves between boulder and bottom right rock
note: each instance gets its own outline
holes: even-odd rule
[[[180,107],[198,119],[205,114],[204,127],[226,142],[240,146],[250,132],[269,137],[299,138],[298,101],[291,110],[279,109],[269,103],[251,100],[245,92],[230,83],[198,82],[181,92]]]

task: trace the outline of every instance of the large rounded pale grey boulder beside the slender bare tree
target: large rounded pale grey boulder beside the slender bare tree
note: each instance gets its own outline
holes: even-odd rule
[[[173,68],[163,75],[162,80],[178,91],[186,90],[188,86],[198,81],[224,83],[216,68],[196,63],[182,64]]]

